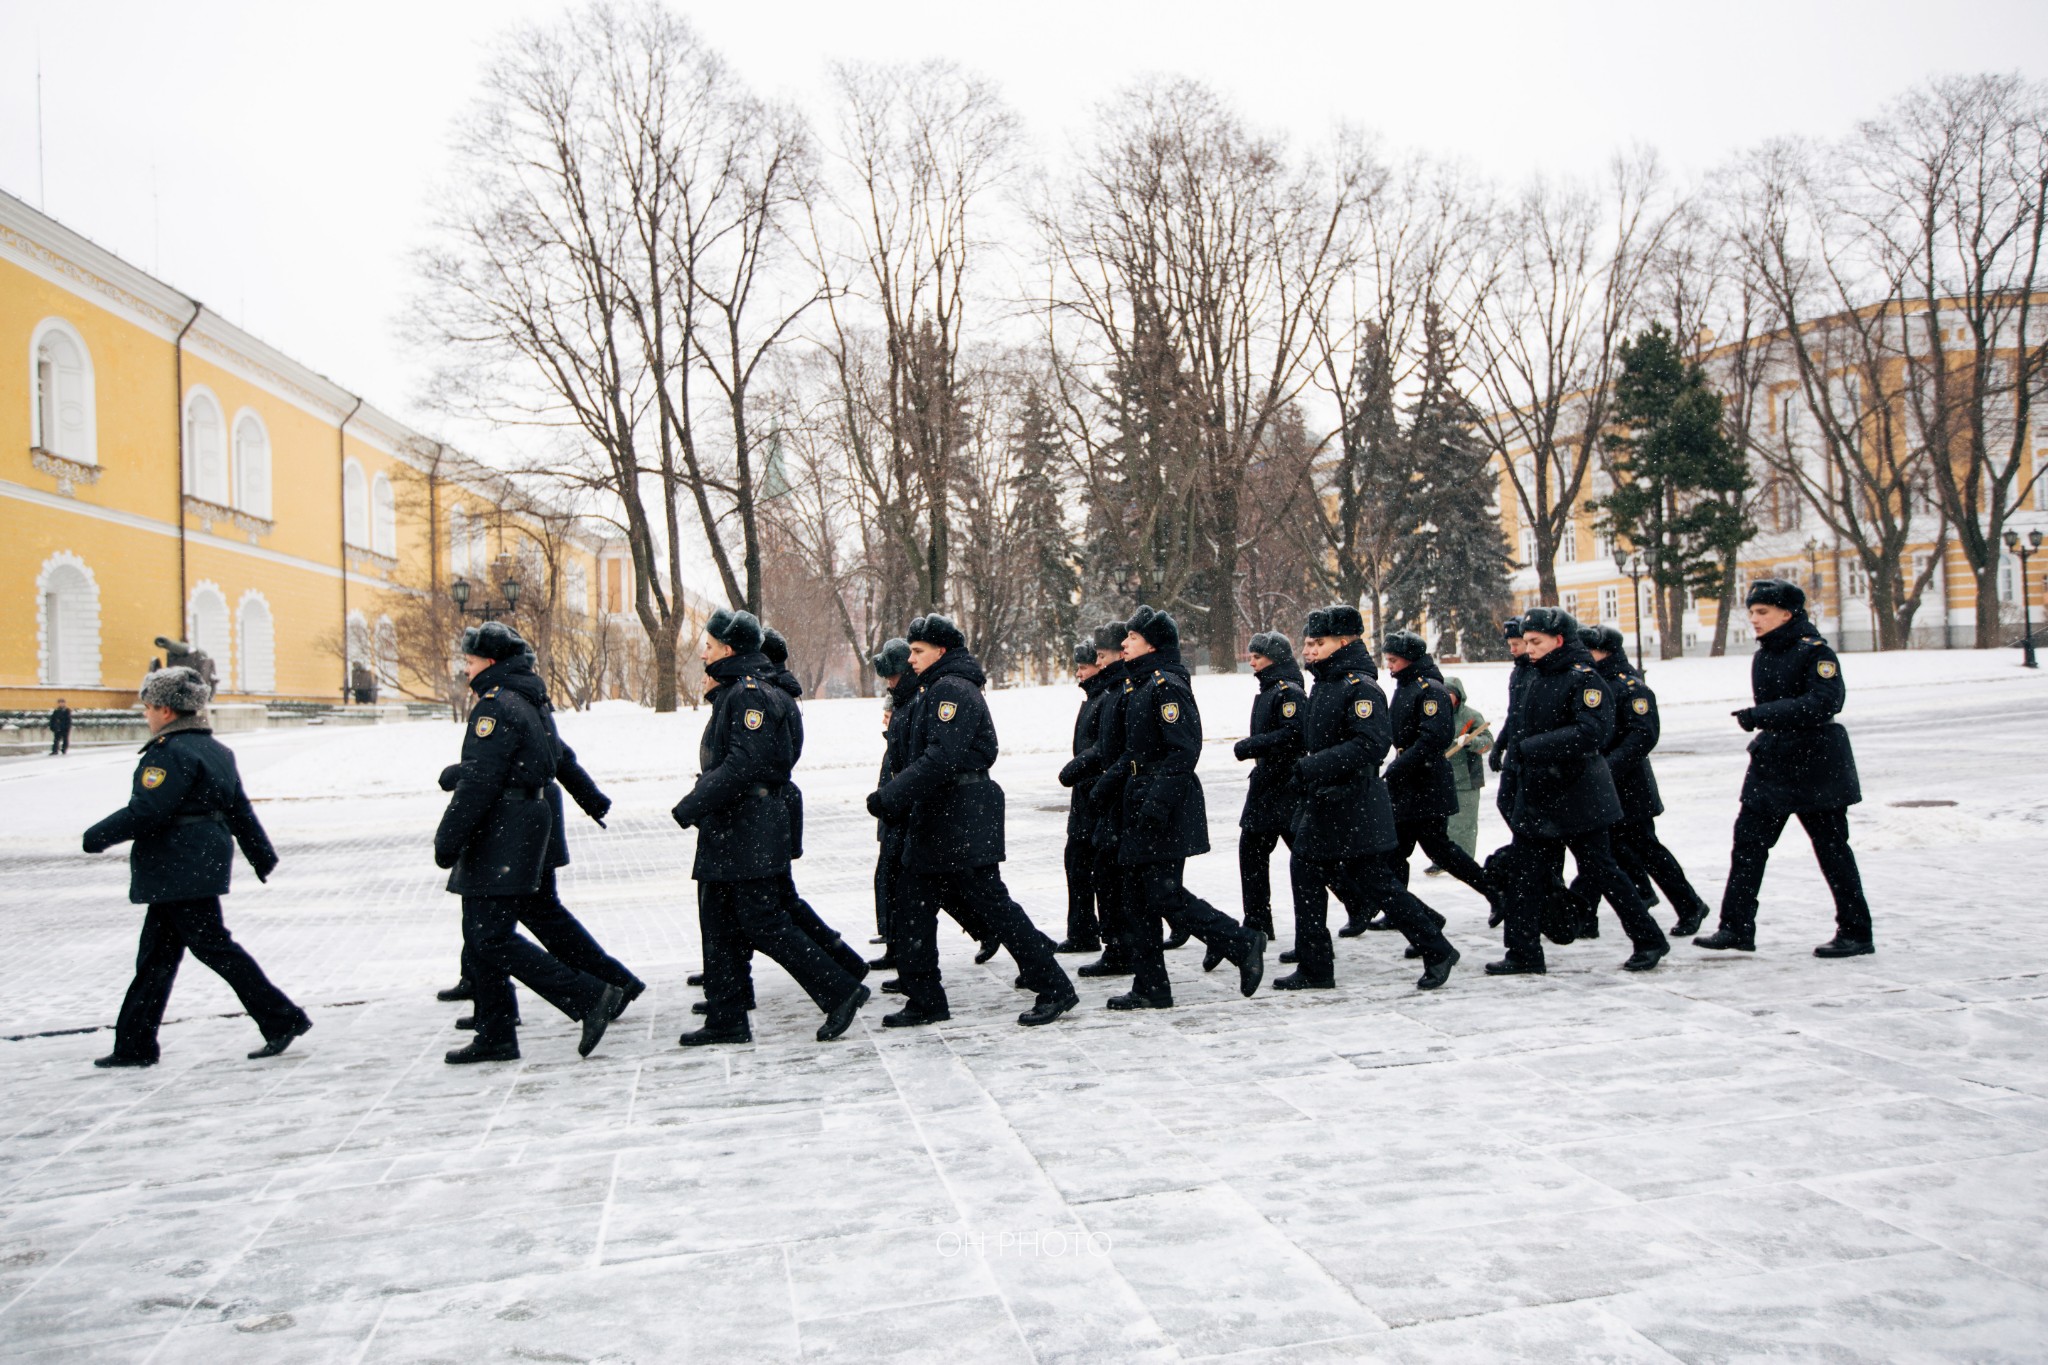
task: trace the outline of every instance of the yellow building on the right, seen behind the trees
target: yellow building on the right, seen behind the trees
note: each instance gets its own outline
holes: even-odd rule
[[[1808,323],[1808,327],[1827,329],[1837,321],[1823,317]],[[1954,350],[1962,340],[1964,334],[1960,329],[1948,334],[1952,346],[1950,358],[1956,364],[1968,362],[1972,354],[1968,350]],[[1745,583],[1761,577],[1798,583],[1806,591],[1808,612],[1833,639],[1837,649],[1876,649],[1878,622],[1870,600],[1870,579],[1855,546],[1833,534],[1819,512],[1806,505],[1798,491],[1798,481],[1788,475],[1788,469],[1796,465],[1815,485],[1831,487],[1821,438],[1812,430],[1812,415],[1802,397],[1786,338],[1784,334],[1767,334],[1751,340],[1747,346],[1751,358],[1759,354],[1763,358],[1751,426],[1753,442],[1763,446],[1772,458],[1763,460],[1755,452],[1749,456],[1751,475],[1755,477],[1749,516],[1757,526],[1757,536],[1743,546],[1741,577]],[[1735,346],[1720,346],[1702,356],[1708,383],[1720,387],[1724,397],[1729,397],[1729,389],[1722,387],[1722,381],[1729,379],[1735,360]],[[1903,368],[1896,362],[1888,372],[1892,375],[1888,383],[1905,383]],[[1831,375],[1829,383],[1849,389],[1855,385],[1845,375]],[[1913,428],[1911,405],[1896,391],[1886,401],[1890,403],[1894,438],[1909,440]],[[1841,399],[1837,399],[1839,403]],[[1866,428],[1876,426],[1876,411],[1868,399],[1851,397],[1845,407],[1864,413],[1862,422]],[[2036,430],[2028,434],[2028,446],[2034,469],[2048,469],[2048,424],[2038,415]],[[1507,555],[1513,565],[1509,591],[1518,610],[1540,604],[1534,567],[1536,538],[1522,520],[1516,483],[1509,475],[1509,467],[1520,465],[1524,485],[1528,487],[1530,460],[1532,454],[1526,448],[1509,450],[1495,460],[1501,532],[1507,538]],[[1659,655],[1659,634],[1651,583],[1640,577],[1636,581],[1628,579],[1622,571],[1626,546],[1616,546],[1610,536],[1599,532],[1599,518],[1589,505],[1608,489],[1608,475],[1595,456],[1593,469],[1587,471],[1585,487],[1573,505],[1571,532],[1559,542],[1554,565],[1556,602],[1548,606],[1563,606],[1583,624],[1620,628],[1628,636],[1630,649],[1634,649],[1636,630],[1640,628],[1642,649],[1655,659]],[[2007,526],[2021,534],[2048,530],[2048,477],[2015,508]],[[1911,528],[1913,538],[1903,555],[1903,571],[1909,575],[1909,581],[1919,577],[1921,569],[1931,567],[1931,573],[1927,575],[1921,606],[1907,643],[1921,649],[1970,647],[1976,622],[1976,579],[1970,575],[1970,565],[1956,548],[1954,538],[1948,538],[1946,544],[1937,540],[1942,518],[1931,487],[1919,497]],[[2040,563],[2036,561],[2036,571]],[[2017,624],[2021,620],[2019,587],[2019,559],[2007,555],[2001,567],[1999,598],[2001,618],[2013,622],[2013,636],[2019,634]],[[2036,573],[2032,583],[2032,614],[2036,624],[2042,620],[2044,596],[2048,593],[2044,593],[2044,583]],[[1681,645],[1686,653],[1708,651],[1714,641],[1716,610],[1718,604],[1706,598],[1688,602],[1681,620]],[[1729,645],[1747,647],[1749,641],[1749,622],[1737,604],[1735,616],[1729,622]]]

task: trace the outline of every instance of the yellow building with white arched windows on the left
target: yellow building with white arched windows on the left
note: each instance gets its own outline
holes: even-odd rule
[[[528,610],[631,608],[618,546],[8,194],[0,434],[0,708],[133,706],[178,634],[227,702],[436,696],[408,610],[498,555]]]

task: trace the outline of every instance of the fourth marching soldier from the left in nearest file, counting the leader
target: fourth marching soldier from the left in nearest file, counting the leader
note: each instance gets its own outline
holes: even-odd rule
[[[1010,898],[1004,862],[1004,788],[989,776],[999,745],[987,673],[967,651],[967,636],[946,616],[920,616],[905,632],[918,671],[909,714],[907,761],[868,796],[868,814],[903,821],[903,886],[891,921],[891,950],[903,982],[903,1009],[885,1027],[950,1019],[938,970],[938,909],[967,902],[1010,950],[1024,988],[1036,993],[1022,1025],[1053,1023],[1079,1001],[1053,956],[1053,941]]]

